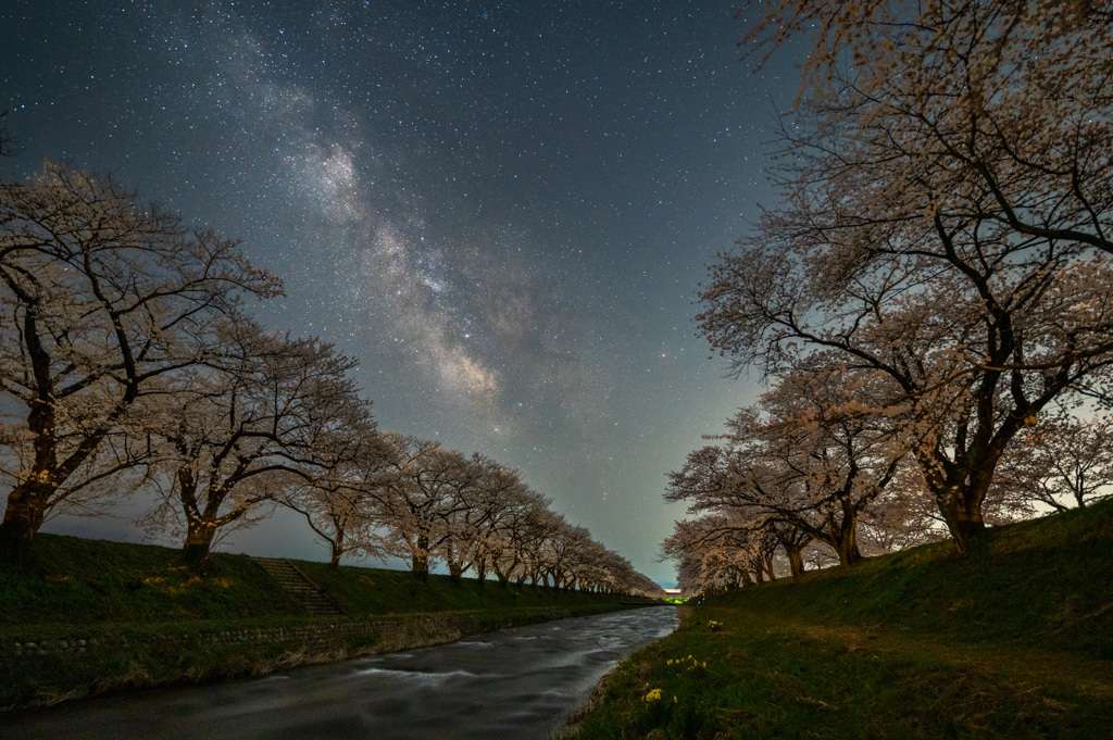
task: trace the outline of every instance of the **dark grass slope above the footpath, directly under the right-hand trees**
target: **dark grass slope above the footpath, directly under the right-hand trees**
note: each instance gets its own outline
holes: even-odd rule
[[[707,603],[1113,659],[1113,500],[991,530],[965,560],[939,542]]]

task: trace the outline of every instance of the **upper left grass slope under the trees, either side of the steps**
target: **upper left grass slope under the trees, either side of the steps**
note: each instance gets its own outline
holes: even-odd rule
[[[0,634],[29,624],[267,620],[307,612],[247,555],[217,554],[205,578],[176,565],[178,551],[36,535],[24,570],[0,569]],[[613,602],[614,596],[294,561],[352,618]]]

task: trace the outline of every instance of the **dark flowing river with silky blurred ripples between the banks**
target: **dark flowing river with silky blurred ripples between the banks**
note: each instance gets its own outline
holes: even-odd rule
[[[677,626],[671,606],[532,624],[265,679],[73,702],[0,737],[544,740],[618,661]]]

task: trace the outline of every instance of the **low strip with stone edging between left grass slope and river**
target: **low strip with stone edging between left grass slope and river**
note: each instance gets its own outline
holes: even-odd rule
[[[316,618],[269,625],[178,622],[29,628],[0,638],[0,710],[120,689],[265,675],[297,665],[452,642],[506,626],[629,609],[584,604],[505,611]]]

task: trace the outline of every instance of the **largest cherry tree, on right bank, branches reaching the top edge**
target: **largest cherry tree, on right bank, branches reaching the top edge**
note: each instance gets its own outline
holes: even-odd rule
[[[782,120],[781,203],[712,267],[701,330],[737,371],[824,348],[899,388],[961,553],[1014,437],[1111,361],[1110,17],[786,1],[750,37],[814,23],[814,91]]]

